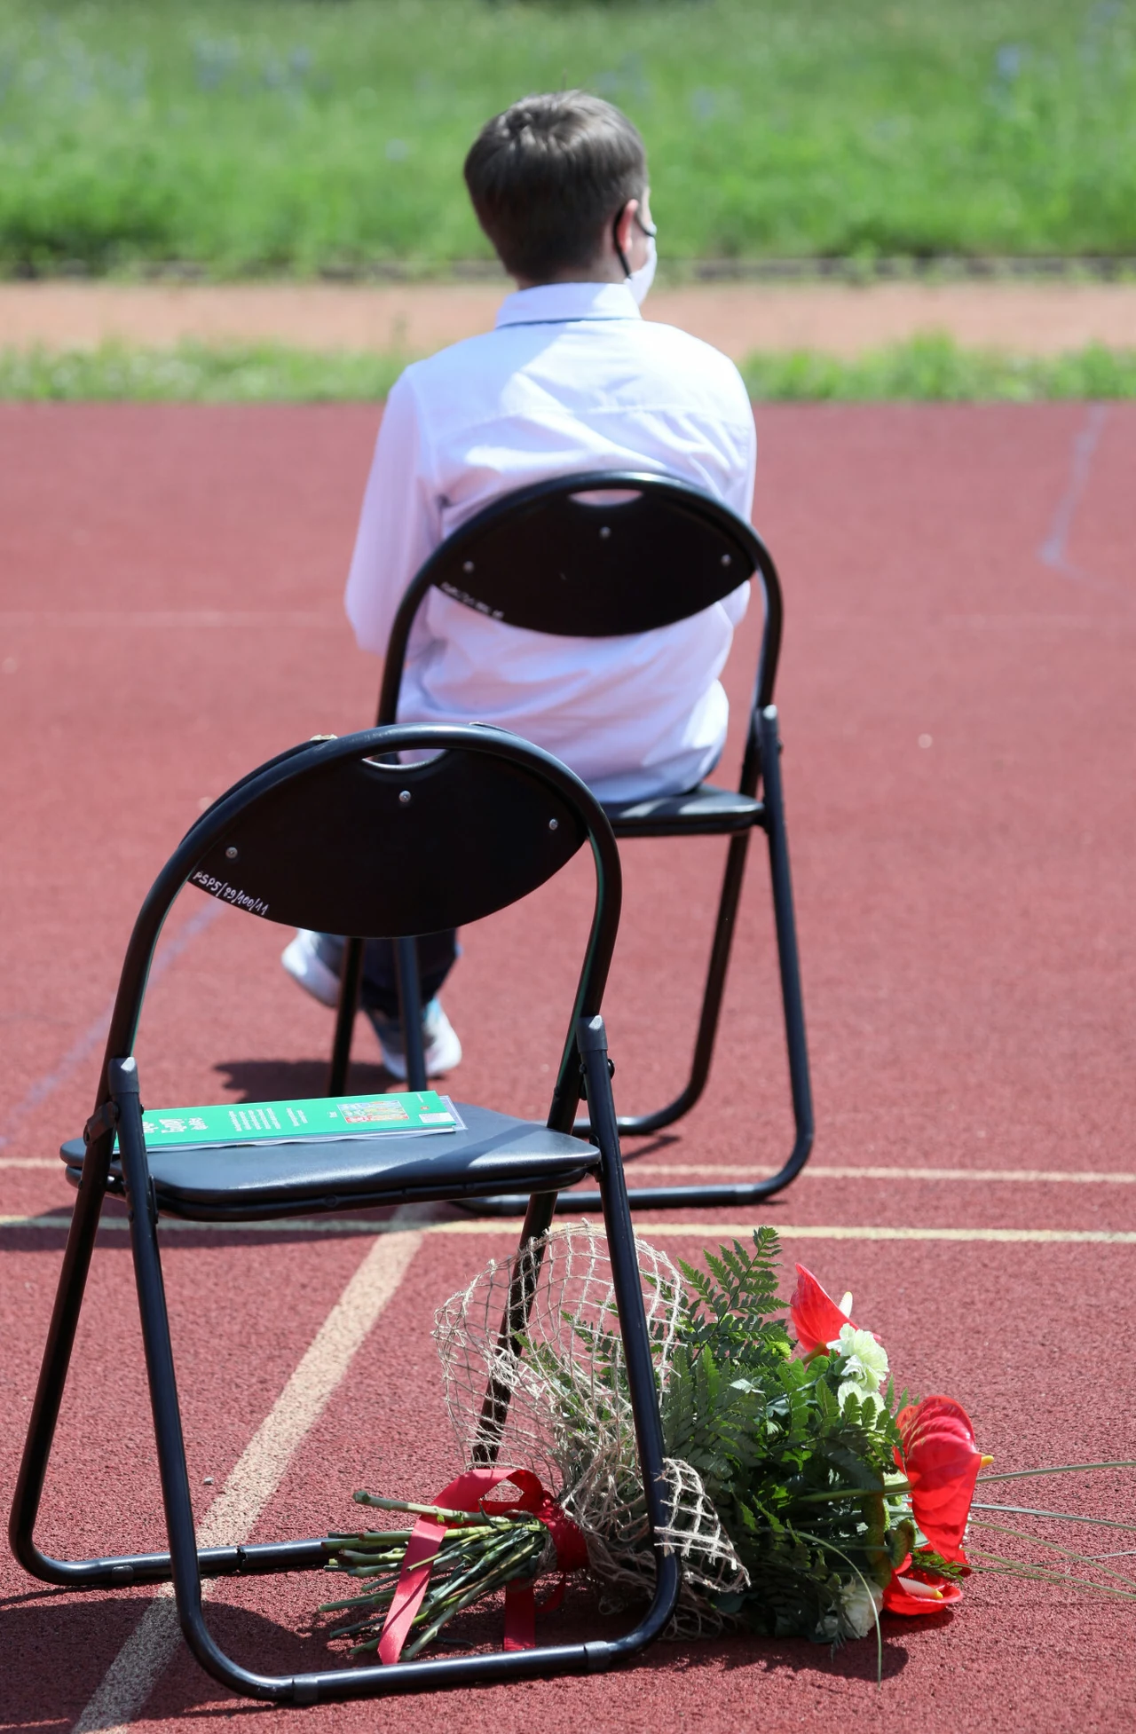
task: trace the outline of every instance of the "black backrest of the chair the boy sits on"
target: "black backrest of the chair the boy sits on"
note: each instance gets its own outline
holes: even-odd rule
[[[506,626],[616,638],[701,614],[756,577],[765,633],[754,711],[774,699],[780,581],[768,548],[728,506],[638,472],[565,475],[503,494],[421,565],[395,616],[378,721],[394,721],[415,616],[432,588]]]

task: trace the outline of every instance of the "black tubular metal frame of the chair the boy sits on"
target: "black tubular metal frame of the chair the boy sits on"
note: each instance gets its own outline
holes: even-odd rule
[[[782,590],[774,565],[774,557],[763,539],[744,518],[723,506],[720,501],[671,477],[643,475],[638,472],[588,472],[581,475],[557,477],[550,482],[538,482],[531,487],[517,489],[494,499],[489,506],[472,517],[453,532],[421,565],[409,584],[390,631],[383,680],[378,699],[378,723],[392,723],[397,716],[406,649],[418,609],[432,588],[442,588],[449,596],[479,609],[482,614],[499,610],[468,590],[479,584],[472,558],[486,532],[496,532],[517,513],[539,512],[548,501],[564,496],[635,492],[657,496],[683,513],[689,513],[725,538],[737,550],[744,572],[730,570],[728,583],[723,583],[721,595],[735,584],[756,579],[765,602],[765,624],[761,647],[758,652],[758,671],[754,680],[753,702],[749,706],[749,723],[746,730],[746,747],[742,754],[741,777],[737,784],[739,803],[732,812],[715,815],[699,810],[697,791],[685,801],[683,798],[668,801],[623,801],[604,803],[612,831],[621,839],[630,838],[668,838],[668,836],[727,836],[727,862],[718,896],[718,914],[709,948],[706,983],[702,988],[702,1007],[699,1013],[697,1035],[690,1073],[678,1096],[666,1106],[652,1113],[623,1115],[619,1131],[624,1136],[649,1136],[673,1125],[694,1108],[702,1096],[709,1079],[709,1068],[718,1033],[718,1018],[725,994],[727,969],[734,943],[737,907],[746,874],[749,839],[754,829],[765,831],[768,844],[770,886],[774,902],[774,922],[777,936],[777,962],[780,975],[780,999],[786,1030],[786,1051],[789,1061],[789,1091],[793,1099],[794,1138],[786,1162],[767,1179],[744,1184],[723,1186],[631,1186],[628,1196],[631,1209],[699,1209],[706,1205],[746,1205],[758,1203],[782,1191],[808,1162],[813,1136],[813,1101],[808,1070],[808,1044],[805,1035],[805,1004],[801,992],[801,964],[796,940],[796,916],[793,907],[793,877],[789,870],[789,839],[786,831],[786,806],[780,777],[780,733],[777,709],[774,706],[774,685],[777,678],[777,661],[782,638]],[[461,584],[454,583],[454,574],[461,574]],[[697,602],[695,610],[704,607]],[[680,610],[675,619],[685,617]],[[604,635],[598,635],[604,636]],[[702,786],[706,787],[706,786]],[[761,796],[758,798],[758,787]],[[408,1056],[408,1079],[413,1089],[425,1087],[425,1059],[421,1047],[421,1011],[418,994],[418,971],[415,964],[415,942],[401,940],[395,945],[397,980],[401,1004],[404,1007],[404,1040]],[[328,1094],[338,1096],[347,1085],[347,1068],[350,1063],[350,1044],[359,1006],[359,988],[362,980],[362,943],[347,940],[343,950],[343,978],[340,1004],[336,1013],[335,1039],[331,1047],[331,1066],[328,1075]],[[588,1122],[581,1122],[578,1131],[586,1131]],[[519,1205],[515,1196],[503,1196],[493,1203],[482,1203],[486,1212],[498,1210],[512,1214]],[[565,1193],[558,1210],[597,1209],[595,1193]]]

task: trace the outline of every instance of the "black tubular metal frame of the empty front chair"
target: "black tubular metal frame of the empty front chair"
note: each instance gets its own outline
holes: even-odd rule
[[[298,779],[317,775],[321,770],[326,772],[352,756],[388,763],[390,754],[423,747],[442,753],[453,749],[465,754],[487,754],[489,758],[512,761],[513,766],[527,770],[536,782],[550,787],[567,805],[569,812],[576,815],[581,834],[579,843],[569,853],[574,853],[583,841],[588,841],[591,846],[597,898],[572,1020],[546,1124],[550,1131],[571,1132],[576,1103],[581,1098],[583,1073],[588,1099],[593,1103],[595,1141],[598,1143],[595,1162],[588,1160],[584,1167],[600,1174],[604,1219],[624,1340],[647,1516],[656,1536],[668,1521],[663,1427],[635,1255],[635,1236],[619,1155],[607,1039],[600,1016],[600,1001],[616,942],[621,902],[619,851],[610,827],[598,803],[565,766],[550,754],[499,730],[479,727],[376,728],[340,740],[317,740],[284,753],[236,784],[193,825],[154,881],[135,922],[114,1001],[95,1096],[95,1111],[85,1131],[87,1148],[85,1153],[80,1151],[75,1158],[82,1162],[78,1200],[68,1233],[9,1529],[17,1561],[26,1571],[45,1583],[66,1588],[118,1588],[135,1583],[173,1581],[186,1642],[206,1673],[234,1692],[281,1705],[312,1705],[441,1685],[484,1685],[489,1682],[543,1679],[558,1673],[602,1672],[617,1661],[635,1656],[650,1644],[669,1621],[678,1599],[678,1557],[673,1550],[666,1550],[657,1543],[654,1597],[645,1614],[624,1637],[584,1644],[545,1646],[532,1651],[451,1656],[397,1663],[395,1666],[331,1668],[297,1675],[265,1675],[245,1668],[219,1647],[203,1620],[203,1574],[217,1578],[310,1571],[326,1562],[326,1550],[323,1538],[243,1543],[201,1550],[196,1545],[161,1278],[158,1243],[160,1195],[156,1193],[147,1164],[139,1073],[132,1056],[146,992],[146,976],[158,935],[175,896],[191,874],[201,867],[201,862],[210,858],[212,853],[213,857],[220,855],[225,834],[231,832],[239,815],[248,813],[253,803],[267,794],[286,789],[288,784],[297,784]],[[539,883],[539,879],[532,881],[529,890],[534,883]],[[520,895],[526,893],[522,891]],[[111,1170],[116,1134],[120,1144],[120,1174],[113,1174]],[[69,1146],[64,1146],[64,1150],[69,1150]],[[584,1148],[583,1155],[590,1157],[591,1151]],[[71,1158],[68,1157],[68,1160]],[[75,1346],[99,1216],[108,1190],[123,1193],[130,1209],[130,1247],[142,1316],[142,1340],[158,1444],[168,1552],[121,1554],[97,1559],[54,1559],[36,1545],[35,1524],[68,1365]],[[442,1190],[435,1184],[432,1190],[423,1191],[423,1196],[446,1195],[444,1184]],[[362,1202],[371,1205],[394,1200],[371,1196]],[[305,1210],[319,1207],[312,1205],[310,1200],[305,1203]],[[331,1207],[343,1210],[345,1207],[350,1209],[352,1203],[343,1198],[323,1203],[323,1209]],[[548,1229],[553,1209],[555,1193],[538,1191],[527,1198],[520,1250]],[[258,1214],[262,1217],[274,1217],[286,1212],[264,1209]],[[501,1321],[503,1340],[515,1339],[519,1330],[524,1328],[524,1318],[531,1304],[532,1264],[531,1257],[524,1261],[529,1274],[520,1274],[520,1257],[515,1266],[513,1287]],[[486,1396],[486,1422],[482,1446],[479,1448],[482,1462],[496,1458],[499,1422],[501,1392],[491,1387]]]

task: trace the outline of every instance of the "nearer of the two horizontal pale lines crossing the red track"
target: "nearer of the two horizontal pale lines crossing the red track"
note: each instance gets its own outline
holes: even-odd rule
[[[754,1228],[749,1222],[643,1222],[637,1221],[637,1235],[682,1236],[683,1240],[706,1235],[728,1235],[748,1240]],[[0,1229],[68,1229],[69,1216],[0,1216]],[[125,1217],[104,1217],[102,1228],[125,1229]],[[361,1217],[286,1217],[276,1222],[182,1222],[175,1217],[161,1219],[163,1229],[193,1231],[205,1235],[378,1235],[387,1236],[399,1231],[395,1221],[371,1222]],[[1093,1247],[1136,1247],[1136,1229],[1113,1228],[895,1228],[891,1224],[820,1224],[820,1222],[775,1222],[782,1240],[989,1240],[1006,1245],[1093,1245]],[[473,1217],[468,1222],[428,1222],[423,1235],[510,1235],[520,1233],[520,1217]]]

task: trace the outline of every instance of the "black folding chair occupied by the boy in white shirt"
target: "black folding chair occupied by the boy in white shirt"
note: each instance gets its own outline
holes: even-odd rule
[[[538,482],[493,501],[430,555],[399,605],[387,649],[378,701],[380,723],[395,720],[411,626],[432,588],[508,626],[574,638],[614,638],[687,619],[720,602],[746,579],[754,579],[761,588],[765,628],[737,791],[704,782],[687,794],[604,803],[617,838],[730,839],[690,1077],[675,1101],[654,1113],[621,1118],[619,1131],[638,1136],[657,1132],[687,1113],[706,1087],[746,853],[753,831],[760,827],[768,841],[794,1141],[787,1162],[768,1179],[742,1186],[633,1186],[628,1193],[631,1209],[756,1203],[780,1191],[801,1172],[813,1143],[780,787],[780,740],[774,707],[782,602],[770,551],[749,524],[685,482],[626,472]],[[415,943],[402,940],[395,950],[408,1077],[413,1089],[421,1089],[425,1065]],[[349,940],[328,1082],[333,1096],[345,1089],[361,975],[362,943]],[[586,1122],[578,1131],[586,1131]],[[598,1207],[598,1196],[574,1193],[558,1205],[560,1210],[581,1207]],[[512,1212],[517,1198],[501,1198],[484,1209]]]

